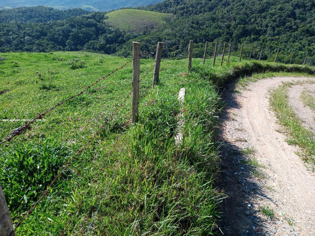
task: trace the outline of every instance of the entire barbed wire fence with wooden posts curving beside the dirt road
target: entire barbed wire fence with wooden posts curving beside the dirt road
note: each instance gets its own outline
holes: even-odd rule
[[[206,42],[205,51],[204,51],[204,58],[203,58],[203,64],[205,63],[205,57],[206,57],[206,53],[207,53],[207,49],[208,49],[208,43],[209,43],[209,42]],[[213,44],[214,44],[214,43],[215,43],[215,52],[214,52],[213,65],[215,65],[215,58],[216,58],[216,54],[217,54],[217,52],[218,52],[218,42],[213,42]],[[69,97],[69,98],[63,100],[62,102],[57,103],[55,106],[49,108],[48,110],[46,110],[46,111],[43,112],[43,113],[37,113],[38,116],[37,116],[36,118],[34,118],[34,119],[33,119],[32,121],[30,121],[29,123],[26,123],[24,126],[19,127],[19,128],[16,128],[16,129],[14,130],[14,132],[12,132],[12,133],[9,135],[9,137],[4,138],[4,140],[0,142],[0,145],[1,145],[1,144],[5,143],[5,142],[7,142],[7,141],[12,140],[15,136],[18,136],[18,135],[22,134],[22,133],[25,132],[27,129],[31,129],[31,124],[33,124],[33,123],[36,121],[36,119],[42,119],[43,116],[45,116],[47,113],[49,113],[50,111],[52,111],[54,108],[56,108],[56,107],[60,106],[61,104],[63,104],[63,103],[65,103],[65,102],[67,102],[67,101],[73,99],[73,98],[76,97],[76,96],[82,95],[82,94],[83,94],[84,92],[86,92],[91,86],[97,84],[97,83],[100,82],[101,80],[106,79],[108,76],[110,76],[111,74],[115,73],[116,71],[118,71],[118,70],[120,70],[120,69],[123,69],[128,63],[133,62],[133,64],[134,64],[134,66],[133,66],[133,73],[134,73],[134,75],[135,75],[135,81],[134,81],[134,83],[133,83],[132,90],[131,90],[131,91],[129,92],[129,94],[123,99],[123,102],[121,102],[120,105],[114,110],[114,112],[112,113],[112,115],[111,115],[109,118],[107,118],[107,119],[105,120],[105,122],[104,122],[104,123],[100,126],[100,128],[95,132],[95,134],[92,136],[92,138],[89,139],[88,142],[87,142],[85,145],[83,145],[82,148],[81,148],[79,151],[77,151],[77,152],[72,156],[72,158],[70,159],[70,161],[66,162],[65,167],[60,171],[60,173],[59,173],[58,175],[55,176],[55,178],[54,178],[53,181],[49,184],[48,188],[43,192],[43,194],[41,195],[41,197],[40,197],[40,198],[37,200],[37,202],[35,202],[35,204],[30,208],[30,210],[27,212],[27,214],[14,226],[13,230],[11,231],[11,233],[10,233],[9,235],[13,235],[13,234],[14,234],[15,229],[16,229],[17,227],[19,227],[20,224],[32,213],[32,211],[37,207],[37,205],[38,205],[39,202],[44,198],[44,196],[49,193],[49,190],[51,189],[52,185],[55,183],[55,181],[57,181],[57,180],[60,178],[61,174],[69,167],[69,165],[73,162],[74,158],[77,157],[77,156],[87,147],[87,145],[89,145],[89,144],[92,142],[92,140],[96,137],[96,135],[100,132],[100,130],[105,127],[106,123],[108,123],[108,121],[109,121],[111,118],[113,118],[113,116],[117,113],[117,111],[118,111],[118,110],[122,107],[122,105],[127,101],[127,99],[130,97],[130,95],[131,95],[131,94],[134,94],[135,92],[138,93],[138,94],[135,95],[135,97],[138,97],[138,100],[137,100],[137,101],[134,101],[134,96],[132,96],[132,97],[133,97],[133,102],[132,102],[133,107],[132,107],[131,119],[132,119],[132,123],[137,122],[138,119],[137,119],[137,118],[134,119],[134,116],[133,116],[133,115],[134,115],[135,111],[137,111],[137,109],[138,109],[138,107],[139,107],[140,57],[143,56],[143,55],[149,54],[149,53],[151,53],[151,52],[154,52],[155,49],[140,54],[140,43],[136,43],[136,44],[137,44],[138,48],[137,48],[137,50],[135,50],[135,42],[134,42],[134,54],[133,54],[133,58],[132,58],[131,60],[127,61],[127,62],[124,63],[121,67],[112,70],[112,71],[109,72],[107,75],[105,75],[105,76],[101,77],[100,79],[96,80],[94,83],[92,83],[91,85],[87,86],[83,91],[81,91],[81,92],[79,92],[79,93],[77,93],[77,94],[75,94],[75,95],[73,95],[73,96],[71,96],[71,97]],[[178,45],[173,45],[173,46],[165,45],[164,47],[187,46],[187,45],[188,45],[188,44],[178,44]],[[230,58],[231,45],[232,45],[232,43],[230,43],[229,55],[228,55],[228,61],[227,61],[227,62],[229,62],[229,58]],[[223,57],[224,57],[224,53],[225,53],[225,46],[226,46],[226,42],[224,42],[224,45],[223,45],[223,53],[222,53],[222,59],[221,59],[221,66],[222,66],[222,63],[223,63]],[[243,46],[244,46],[244,44],[241,45],[239,61],[241,61],[241,59],[242,59]],[[158,76],[158,74],[159,74],[159,69],[160,69],[159,66],[160,66],[160,62],[161,62],[162,48],[163,48],[163,42],[158,42],[157,48],[156,48],[156,50],[157,50],[157,52],[156,52],[157,55],[156,55],[156,59],[155,59],[155,63],[154,63],[154,68],[155,68],[155,69],[154,69],[154,73],[153,73],[153,86],[158,82],[157,76]],[[253,48],[254,48],[254,46],[251,47],[251,51],[250,51],[250,55],[249,55],[249,60],[251,59],[251,56],[253,55]],[[191,65],[192,65],[193,41],[190,41],[190,43],[189,43],[188,52],[189,52],[189,55],[188,55],[188,70],[190,70],[190,69],[191,69]],[[259,55],[259,60],[261,59],[261,54],[262,54],[262,52],[263,52],[263,47],[261,47],[261,52],[260,52],[260,55]],[[276,59],[277,59],[277,56],[278,56],[278,52],[279,52],[279,48],[278,48],[276,57],[275,57],[275,59],[274,59],[275,62],[276,62]],[[138,55],[138,54],[139,54],[139,55]],[[137,55],[137,56],[136,56],[136,55]],[[292,53],[292,56],[291,56],[291,59],[290,59],[290,63],[291,63],[291,61],[292,61],[293,55],[294,55],[294,52]],[[258,56],[258,55],[257,55],[257,56]],[[306,58],[307,58],[307,53],[306,53],[306,57],[305,57],[305,59],[304,59],[303,66],[304,66],[304,64],[305,64]],[[136,70],[138,70],[138,69],[139,69],[139,73],[136,72]],[[149,73],[150,71],[151,71],[151,68],[147,71],[147,73],[145,74],[144,78],[146,78],[146,76],[148,75],[148,73]],[[138,74],[137,74],[137,73],[138,73]],[[134,79],[133,79],[133,80],[134,80]],[[135,83],[135,82],[136,82],[136,83]],[[134,85],[134,84],[135,84],[135,85]],[[138,88],[138,89],[137,89],[137,88]],[[136,91],[136,90],[137,90],[137,91]],[[139,115],[139,114],[138,114],[138,112],[137,112],[136,116],[138,116],[138,115]],[[112,149],[111,149],[111,151],[109,152],[109,154],[111,154],[111,153],[114,151],[114,148],[116,147],[116,142],[117,142],[117,140],[119,140],[119,138],[120,138],[121,134],[123,133],[123,130],[125,130],[125,127],[126,127],[127,124],[128,124],[128,122],[124,124],[123,129],[122,129],[121,133],[119,134],[118,138],[116,139],[115,144],[112,146]],[[70,155],[69,155],[69,156],[70,156]],[[122,157],[121,157],[121,158],[122,158]],[[106,160],[108,160],[108,158],[107,158]],[[86,191],[86,193],[83,195],[83,198],[81,199],[80,203],[79,203],[78,206],[77,206],[76,211],[74,212],[74,214],[73,214],[72,217],[70,218],[68,224],[66,225],[66,228],[68,228],[68,226],[69,226],[70,223],[72,222],[72,220],[73,220],[73,218],[74,218],[76,212],[78,211],[78,209],[79,209],[80,206],[82,205],[82,202],[83,202],[85,196],[89,193],[89,191],[91,190],[91,188],[92,188],[93,184],[95,183],[97,177],[99,176],[100,171],[104,168],[106,160],[103,162],[103,165],[100,167],[98,173],[96,174],[95,178],[93,179],[92,183],[90,184],[90,188],[89,188],[88,191]],[[116,167],[115,172],[114,172],[113,175],[112,175],[112,178],[113,178],[114,174],[116,173],[117,168],[118,168],[120,162],[121,162],[121,159],[120,159],[120,161],[117,163],[117,167]],[[104,195],[102,196],[102,200],[104,199],[104,197],[105,197],[105,195],[106,195],[106,193],[107,193],[107,190],[108,190],[108,188],[109,188],[110,183],[112,183],[112,178],[111,178],[111,180],[110,180],[110,182],[109,182],[109,184],[108,184],[108,186],[107,186],[107,188],[106,188],[106,191],[104,192]],[[101,200],[101,201],[102,201],[102,200]],[[100,202],[100,204],[101,204],[101,202]],[[98,209],[99,209],[99,208],[100,208],[100,206],[98,207]],[[94,221],[94,218],[92,219],[92,221],[91,221],[91,223],[90,223],[90,225],[89,225],[88,232],[89,232],[89,229],[90,229],[91,225],[93,224],[93,221]],[[61,233],[60,235],[63,235],[63,234],[64,234],[66,228],[64,228],[64,230],[62,231],[62,233]],[[88,232],[87,232],[87,233],[88,233]]]

